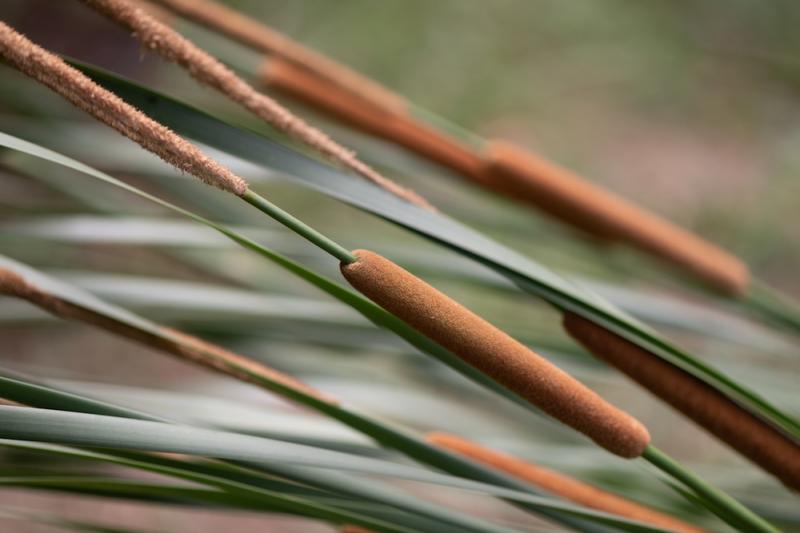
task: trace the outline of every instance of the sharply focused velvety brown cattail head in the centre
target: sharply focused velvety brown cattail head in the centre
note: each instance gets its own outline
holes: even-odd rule
[[[475,313],[378,254],[353,253],[341,265],[353,287],[467,363],[621,457],[650,442],[636,419]]]

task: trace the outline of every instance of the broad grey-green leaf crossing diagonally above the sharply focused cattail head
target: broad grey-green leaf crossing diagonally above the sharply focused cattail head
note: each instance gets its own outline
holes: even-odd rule
[[[525,291],[572,311],[684,369],[743,407],[800,437],[800,422],[759,394],[704,364],[652,328],[610,303],[561,278],[531,259],[446,215],[409,204],[356,176],[291,150],[244,128],[93,66],[73,62],[95,81],[187,137],[278,170],[303,185],[403,226],[507,276]]]

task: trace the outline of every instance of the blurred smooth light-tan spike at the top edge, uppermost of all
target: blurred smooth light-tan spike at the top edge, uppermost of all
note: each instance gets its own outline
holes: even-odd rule
[[[403,98],[385,87],[225,5],[211,0],[152,1],[258,52],[273,54],[385,114],[406,112]]]

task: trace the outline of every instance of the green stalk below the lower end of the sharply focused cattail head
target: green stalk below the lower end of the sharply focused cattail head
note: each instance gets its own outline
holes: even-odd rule
[[[779,533],[772,524],[731,496],[710,485],[652,444],[645,448],[642,458],[691,489],[697,496],[710,504],[706,506],[710,511],[731,526],[741,531]]]

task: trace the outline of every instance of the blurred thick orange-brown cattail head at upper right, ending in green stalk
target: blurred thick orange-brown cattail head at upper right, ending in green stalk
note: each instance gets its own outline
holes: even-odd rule
[[[727,294],[747,287],[747,267],[736,257],[517,146],[490,143],[485,172],[488,187],[601,239],[628,242]]]

